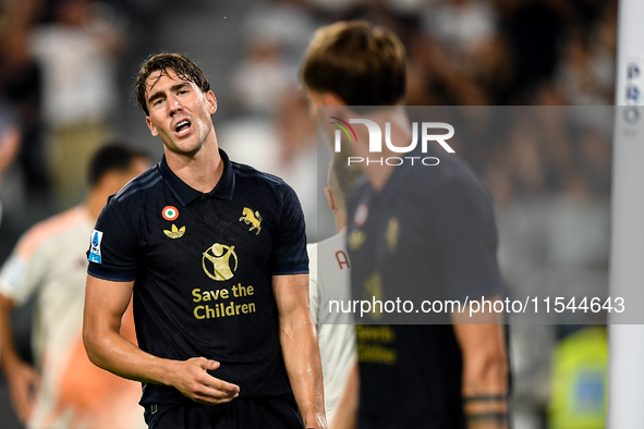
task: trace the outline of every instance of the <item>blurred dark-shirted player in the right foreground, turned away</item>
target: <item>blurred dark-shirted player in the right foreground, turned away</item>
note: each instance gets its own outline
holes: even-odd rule
[[[325,117],[367,119],[390,127],[392,142],[412,140],[402,107],[404,49],[390,32],[365,22],[318,29],[301,79],[313,110],[326,106]],[[400,156],[388,147],[369,154],[367,127],[353,130],[352,156]],[[494,301],[502,293],[489,194],[453,155],[430,147],[424,157],[432,156],[439,166],[357,164],[367,181],[348,204],[353,299],[464,302],[470,295]],[[369,316],[374,321],[392,317]],[[360,428],[507,428],[509,369],[500,319],[454,311],[437,321],[356,326]]]

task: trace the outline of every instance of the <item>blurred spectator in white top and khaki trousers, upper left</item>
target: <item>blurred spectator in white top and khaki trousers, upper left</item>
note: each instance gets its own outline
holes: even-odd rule
[[[109,133],[123,41],[114,24],[108,3],[61,0],[54,22],[32,34],[32,53],[42,68],[47,159],[61,208],[80,200],[85,187],[77,177]]]

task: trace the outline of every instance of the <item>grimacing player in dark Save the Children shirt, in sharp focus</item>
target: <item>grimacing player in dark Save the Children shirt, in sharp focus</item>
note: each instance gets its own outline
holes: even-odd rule
[[[84,340],[144,383],[150,428],[326,428],[304,219],[283,181],[218,148],[187,58],[148,58],[136,98],[161,161],[113,196],[88,252]],[[138,346],[119,333],[133,294]]]

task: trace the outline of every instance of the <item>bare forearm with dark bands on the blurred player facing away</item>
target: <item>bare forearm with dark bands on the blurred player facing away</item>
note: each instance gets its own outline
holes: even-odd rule
[[[489,297],[490,301],[498,296]],[[498,314],[452,314],[463,355],[463,407],[469,429],[508,428],[508,352]],[[479,323],[479,324],[471,324]]]

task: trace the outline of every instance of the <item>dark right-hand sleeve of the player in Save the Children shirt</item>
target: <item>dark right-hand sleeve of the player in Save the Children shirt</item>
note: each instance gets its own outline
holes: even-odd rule
[[[278,216],[270,266],[271,274],[308,273],[304,212],[295,191],[285,183],[281,187]]]

